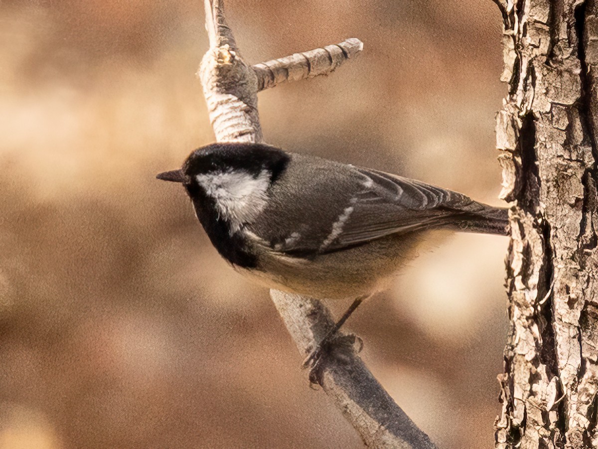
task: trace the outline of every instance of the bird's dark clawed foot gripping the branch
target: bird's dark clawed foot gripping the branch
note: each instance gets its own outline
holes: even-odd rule
[[[327,360],[346,363],[350,359],[350,353],[361,352],[363,347],[364,341],[355,334],[335,332],[327,335],[303,361],[303,368],[310,368],[310,383],[322,384],[323,368]]]

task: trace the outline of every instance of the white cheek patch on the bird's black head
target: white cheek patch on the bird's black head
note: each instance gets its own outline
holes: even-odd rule
[[[254,221],[266,207],[266,191],[270,173],[263,170],[257,178],[248,172],[214,172],[196,176],[218,212],[227,219],[231,231],[239,231],[243,224]]]

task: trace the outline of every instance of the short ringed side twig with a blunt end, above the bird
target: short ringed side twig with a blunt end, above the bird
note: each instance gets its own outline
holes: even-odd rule
[[[359,39],[349,38],[336,45],[295,53],[252,66],[258,77],[258,89],[264,90],[285,81],[299,81],[318,75],[328,75],[350,57],[363,50]]]

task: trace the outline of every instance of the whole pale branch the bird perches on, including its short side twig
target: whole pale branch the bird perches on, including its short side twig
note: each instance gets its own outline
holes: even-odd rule
[[[329,74],[362,49],[359,39],[248,66],[240,57],[225,20],[222,0],[205,0],[210,48],[199,77],[216,140],[263,142],[257,93],[283,81]],[[285,325],[306,356],[334,322],[328,309],[313,298],[271,291]],[[432,449],[434,444],[393,402],[357,355],[355,337],[345,335],[319,365],[317,380],[334,404],[376,448]]]

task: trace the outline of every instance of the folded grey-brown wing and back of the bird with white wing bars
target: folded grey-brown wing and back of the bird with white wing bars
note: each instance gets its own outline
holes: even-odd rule
[[[297,154],[270,190],[249,230],[274,251],[306,257],[438,226],[484,207],[413,179]]]

